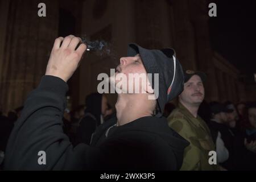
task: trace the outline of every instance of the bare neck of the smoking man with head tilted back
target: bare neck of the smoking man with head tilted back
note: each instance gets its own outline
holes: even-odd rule
[[[150,103],[146,102],[150,102],[147,100],[147,94],[118,94],[115,104],[117,125],[125,125],[138,118],[150,116],[150,109],[147,108]]]

